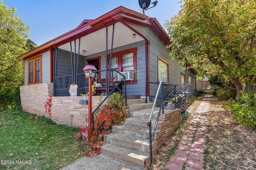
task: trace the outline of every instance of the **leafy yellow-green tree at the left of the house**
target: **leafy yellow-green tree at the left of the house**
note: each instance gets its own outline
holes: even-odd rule
[[[23,62],[16,57],[27,51],[29,28],[0,0],[0,110],[20,105]]]

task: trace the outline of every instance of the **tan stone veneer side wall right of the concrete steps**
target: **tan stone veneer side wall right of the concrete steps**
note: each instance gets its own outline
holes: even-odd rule
[[[174,130],[180,125],[181,122],[181,110],[174,109],[171,112],[160,115],[157,130],[154,136],[156,142],[152,146],[153,152],[156,152],[166,141]],[[153,129],[154,127],[152,127]]]

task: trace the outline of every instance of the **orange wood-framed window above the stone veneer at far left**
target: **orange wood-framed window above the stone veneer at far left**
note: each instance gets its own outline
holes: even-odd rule
[[[28,60],[28,84],[42,83],[42,55]]]

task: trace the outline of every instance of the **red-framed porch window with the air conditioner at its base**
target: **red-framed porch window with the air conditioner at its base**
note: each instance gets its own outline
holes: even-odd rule
[[[108,68],[110,63],[110,54],[108,54]],[[127,81],[127,84],[136,84],[136,72],[137,72],[137,47],[132,49],[126,49],[124,51],[119,51],[112,53],[111,59],[111,69],[116,71],[133,71],[134,80]],[[118,73],[113,72],[113,77],[118,77]]]

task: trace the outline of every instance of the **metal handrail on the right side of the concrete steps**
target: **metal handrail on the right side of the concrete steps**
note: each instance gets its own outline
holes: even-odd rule
[[[147,82],[147,83],[153,83],[153,82]],[[158,89],[156,91],[156,96],[154,97],[154,103],[153,103],[153,107],[151,109],[151,112],[150,112],[150,117],[148,119],[148,127],[149,127],[149,152],[150,152],[150,165],[152,164],[152,141],[154,140],[154,134],[156,132],[156,128],[157,128],[157,125],[158,125],[158,120],[159,120],[159,117],[160,117],[160,113],[161,113],[161,110],[162,110],[162,113],[164,113],[164,103],[167,102],[167,101],[176,101],[174,99],[168,99],[168,98],[164,98],[164,85],[174,85],[172,83],[168,83],[168,82],[165,82],[165,81],[160,81],[160,83],[154,83],[154,84],[159,84],[158,85]],[[154,129],[153,129],[153,134],[152,134],[152,115],[153,115],[153,112],[154,112],[154,109],[155,109],[155,105],[156,105],[156,101],[158,98],[158,94],[159,94],[159,91],[161,89],[161,86],[162,86],[162,102],[161,102],[161,106],[160,106],[160,109],[158,111],[158,115],[156,117],[156,123],[155,123],[155,126],[154,126]],[[174,92],[176,91],[176,85],[174,85]],[[150,95],[146,95],[146,99],[147,97],[150,96]],[[151,97],[151,96],[150,96]],[[165,99],[167,99],[165,101]]]

